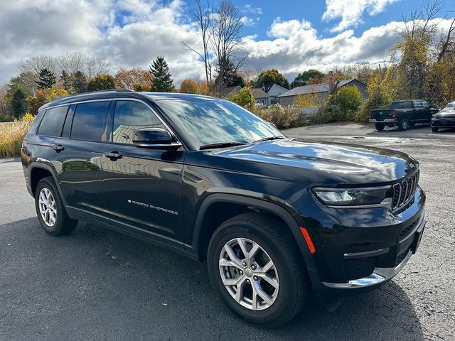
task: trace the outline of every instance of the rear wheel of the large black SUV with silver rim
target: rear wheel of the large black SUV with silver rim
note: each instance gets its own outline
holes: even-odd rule
[[[42,178],[36,186],[35,207],[41,227],[48,234],[53,236],[68,234],[77,225],[77,220],[68,217],[60,193],[51,176]]]

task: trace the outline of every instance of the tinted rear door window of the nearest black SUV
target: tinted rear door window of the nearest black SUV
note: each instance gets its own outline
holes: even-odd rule
[[[87,141],[105,141],[105,118],[109,102],[77,104],[71,137]]]

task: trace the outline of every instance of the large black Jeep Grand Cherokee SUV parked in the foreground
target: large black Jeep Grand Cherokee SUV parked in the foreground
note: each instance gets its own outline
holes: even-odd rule
[[[45,232],[95,222],[206,260],[251,323],[390,280],[419,246],[419,163],[285,138],[223,99],[111,90],[45,104],[23,141]]]

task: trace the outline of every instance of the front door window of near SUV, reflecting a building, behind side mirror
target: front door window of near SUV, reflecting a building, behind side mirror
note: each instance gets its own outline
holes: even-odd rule
[[[142,128],[166,129],[145,104],[134,101],[117,101],[112,141],[120,144],[132,144],[134,131]]]

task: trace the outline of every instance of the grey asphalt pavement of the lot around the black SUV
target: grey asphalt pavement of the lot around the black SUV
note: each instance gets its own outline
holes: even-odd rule
[[[205,263],[85,222],[48,236],[20,161],[3,159],[0,340],[455,340],[455,131],[326,124],[284,134],[396,149],[420,162],[427,227],[392,281],[331,313],[313,299],[288,325],[257,328],[220,302]]]

